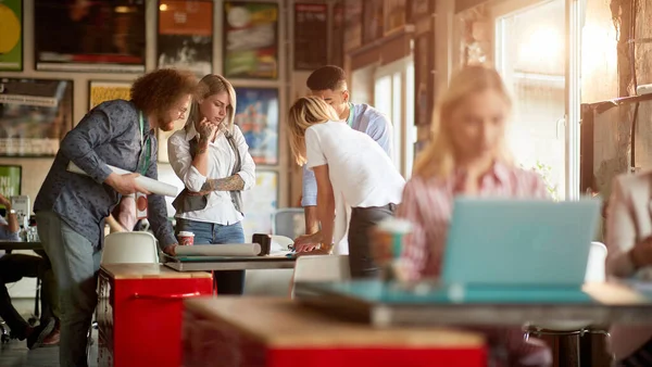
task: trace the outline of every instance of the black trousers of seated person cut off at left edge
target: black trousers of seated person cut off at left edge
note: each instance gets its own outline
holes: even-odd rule
[[[25,338],[29,324],[12,305],[7,283],[16,282],[24,277],[38,277],[42,281],[41,321],[59,317],[54,275],[48,258],[25,254],[7,254],[0,257],[0,317],[7,322],[12,334],[20,339]]]

